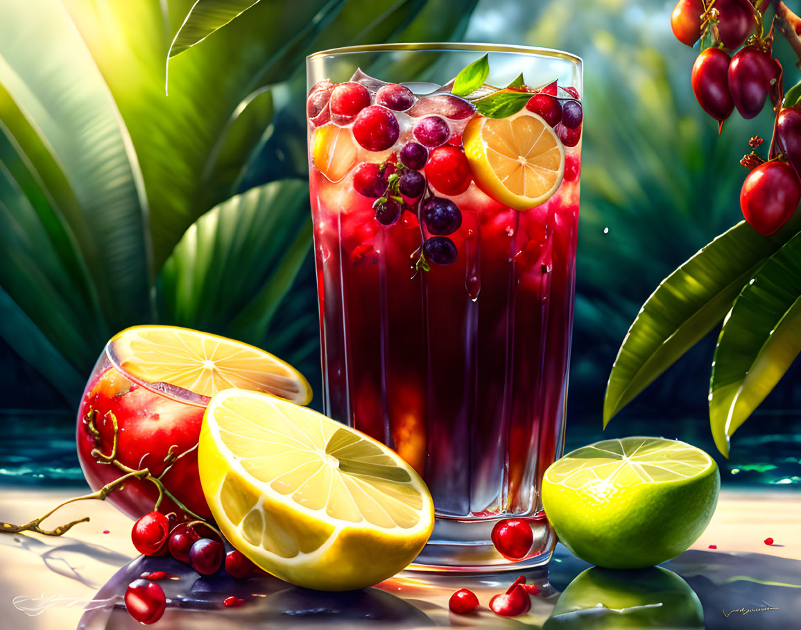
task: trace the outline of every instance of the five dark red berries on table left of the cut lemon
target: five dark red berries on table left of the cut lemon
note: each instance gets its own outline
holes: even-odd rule
[[[244,580],[256,571],[256,565],[241,552],[234,549],[225,553],[223,540],[203,523],[175,523],[175,515],[159,511],[148,512],[134,523],[131,542],[143,555],[170,554],[201,575],[212,575],[224,566],[228,575]],[[167,598],[155,580],[164,576],[163,571],[155,571],[128,585],[125,605],[139,623],[154,624],[161,619]]]

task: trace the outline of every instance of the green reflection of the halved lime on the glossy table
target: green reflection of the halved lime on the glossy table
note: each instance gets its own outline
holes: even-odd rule
[[[703,627],[698,596],[672,571],[590,567],[559,596],[543,630]]]

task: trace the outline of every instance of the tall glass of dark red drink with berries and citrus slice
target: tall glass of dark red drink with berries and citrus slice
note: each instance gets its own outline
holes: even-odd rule
[[[582,61],[387,44],[308,57],[309,186],[326,413],[422,475],[418,567],[545,563],[562,454]],[[455,80],[454,80],[455,79]],[[521,519],[509,558],[493,527]]]

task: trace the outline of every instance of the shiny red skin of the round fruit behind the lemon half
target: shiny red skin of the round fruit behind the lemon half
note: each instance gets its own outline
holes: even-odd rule
[[[88,421],[91,410],[97,413],[95,435]],[[125,473],[107,463],[99,454],[111,454],[114,445],[114,425],[111,414],[117,419],[117,459],[133,470],[147,467],[158,477],[167,467],[164,458],[170,447],[175,454],[195,448],[203,423],[205,406],[179,402],[139,383],[132,382],[113,366],[91,378],[84,390],[78,410],[78,459],[83,476],[93,491],[123,476]],[[95,454],[93,450],[97,449]],[[175,495],[183,505],[204,519],[211,519],[211,511],[203,496],[198,474],[197,450],[187,452],[176,461],[162,479],[164,487]],[[107,500],[131,517],[139,517],[153,510],[159,491],[152,483],[143,479],[130,479],[123,488],[112,491]],[[175,511],[179,522],[187,515],[167,495],[159,511],[167,514]]]

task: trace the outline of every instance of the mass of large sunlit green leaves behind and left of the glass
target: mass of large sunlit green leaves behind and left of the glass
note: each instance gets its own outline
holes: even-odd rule
[[[6,2],[0,336],[66,406],[107,338],[146,322],[319,370],[304,58],[458,38],[474,5]]]

